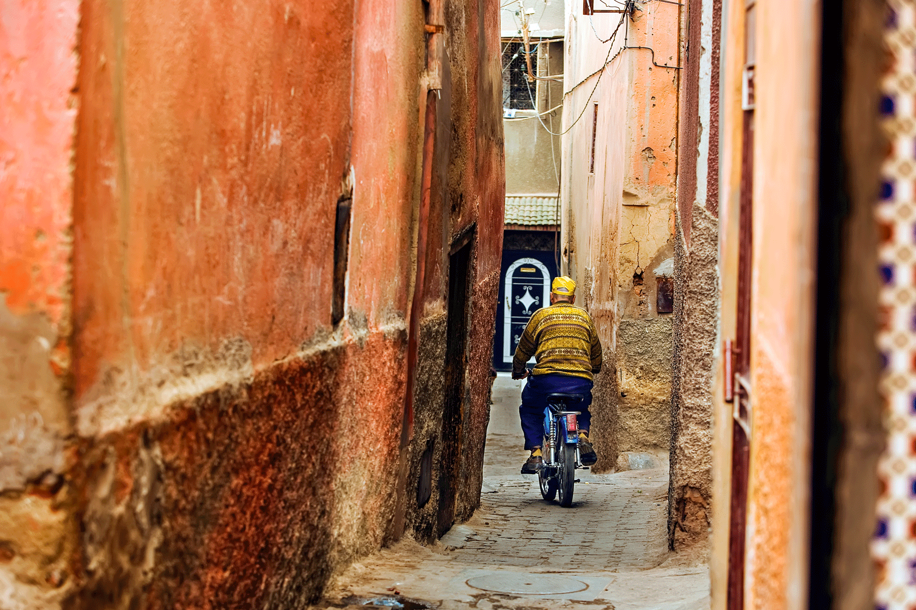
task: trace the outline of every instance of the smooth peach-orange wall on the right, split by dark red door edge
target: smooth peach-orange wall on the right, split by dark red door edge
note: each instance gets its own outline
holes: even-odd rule
[[[757,3],[747,608],[807,607],[819,6]],[[743,6],[728,19],[722,149],[723,336],[735,336]],[[731,270],[731,273],[729,273]],[[721,374],[721,373],[720,373]],[[713,608],[725,607],[732,405],[715,398]]]

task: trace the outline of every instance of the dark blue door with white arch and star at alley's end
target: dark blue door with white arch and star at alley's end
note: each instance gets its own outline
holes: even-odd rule
[[[515,355],[518,340],[525,331],[531,314],[541,307],[550,305],[553,277],[548,265],[539,260],[552,256],[552,252],[547,253],[547,256],[537,256],[541,254],[540,251],[505,253],[510,256],[504,257],[503,261],[504,272],[499,291],[502,303],[496,320],[496,346],[494,346],[496,348],[494,365],[496,369],[502,370],[512,368],[512,357]],[[532,359],[531,362],[533,361]]]

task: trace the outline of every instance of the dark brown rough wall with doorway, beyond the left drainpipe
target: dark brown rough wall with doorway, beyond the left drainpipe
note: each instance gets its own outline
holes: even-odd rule
[[[490,362],[502,262],[505,181],[502,80],[498,8],[453,0],[445,4],[444,66],[432,177],[430,257],[420,339],[414,438],[409,449],[407,526],[419,540],[432,540],[453,522],[470,518],[480,502]],[[438,223],[438,224],[437,224]],[[459,397],[443,378],[448,357],[450,257],[470,244],[467,338]],[[454,364],[454,363],[453,363]],[[443,419],[449,400],[455,419]],[[448,430],[450,425],[457,427]],[[420,461],[431,446],[431,498],[418,506]],[[445,450],[443,452],[443,449]],[[442,498],[442,493],[448,498]],[[444,504],[444,508],[443,508]],[[442,513],[442,514],[441,514]]]

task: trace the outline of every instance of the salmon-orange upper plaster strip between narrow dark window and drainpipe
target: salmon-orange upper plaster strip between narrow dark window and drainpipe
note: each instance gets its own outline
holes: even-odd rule
[[[419,193],[414,177],[426,102],[422,91],[420,104],[417,85],[417,58],[426,53],[417,36],[422,22],[420,5],[357,5],[347,304],[372,327],[402,319],[409,298],[412,203]]]

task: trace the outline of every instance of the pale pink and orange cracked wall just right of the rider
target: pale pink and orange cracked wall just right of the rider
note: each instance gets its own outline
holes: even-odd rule
[[[629,21],[628,44],[676,66],[679,16],[675,5],[646,5]],[[567,7],[563,264],[612,355],[595,386],[599,455],[667,455],[671,319],[656,310],[655,270],[671,274],[662,270],[673,256],[677,73],[653,66],[646,49],[622,49],[626,22],[612,43],[601,42],[620,18]],[[589,75],[607,59],[596,83]],[[616,466],[604,460],[599,469]]]

